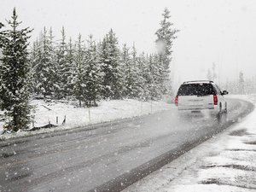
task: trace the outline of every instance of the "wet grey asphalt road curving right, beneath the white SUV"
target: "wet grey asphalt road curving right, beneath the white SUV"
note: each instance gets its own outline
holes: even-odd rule
[[[0,142],[0,191],[119,191],[253,109],[229,99],[227,119],[177,110]]]

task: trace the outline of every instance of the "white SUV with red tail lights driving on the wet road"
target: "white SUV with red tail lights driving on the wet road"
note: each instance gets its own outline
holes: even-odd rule
[[[227,113],[228,106],[224,95],[229,92],[221,91],[213,81],[187,81],[180,85],[175,97],[178,110],[199,112],[208,110],[210,113]]]

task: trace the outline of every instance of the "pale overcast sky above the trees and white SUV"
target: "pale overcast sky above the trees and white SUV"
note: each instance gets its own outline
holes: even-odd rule
[[[239,71],[256,76],[256,1],[254,0],[0,0],[0,21],[14,7],[24,26],[34,28],[32,39],[44,26],[56,38],[61,26],[73,39],[93,34],[100,39],[112,27],[119,43],[135,42],[139,51],[155,52],[154,32],[168,8],[180,30],[173,47],[172,73],[177,84],[206,79],[212,62],[221,82]]]

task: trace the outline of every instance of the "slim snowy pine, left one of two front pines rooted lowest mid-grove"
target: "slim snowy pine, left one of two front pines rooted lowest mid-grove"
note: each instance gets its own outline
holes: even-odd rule
[[[85,80],[84,80],[84,48],[82,46],[82,38],[79,34],[79,39],[75,44],[75,52],[73,55],[73,74],[72,74],[72,84],[73,84],[73,96],[79,100],[79,108],[82,107],[82,102],[84,102],[85,94]]]

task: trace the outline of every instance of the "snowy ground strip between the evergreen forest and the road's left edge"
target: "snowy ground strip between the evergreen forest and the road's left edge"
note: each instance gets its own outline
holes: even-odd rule
[[[93,125],[116,119],[132,118],[175,108],[172,104],[166,102],[139,102],[132,99],[102,101],[98,104],[99,107],[90,108],[89,111],[89,108],[75,108],[73,105],[65,102],[34,100],[32,101],[32,105],[36,107],[34,126],[38,127],[49,123],[59,126],[38,131],[19,131],[13,134],[4,134],[0,136],[0,140],[73,129],[75,127]],[[66,123],[62,125],[65,116]],[[3,122],[0,122],[0,132],[1,131],[3,131]]]

